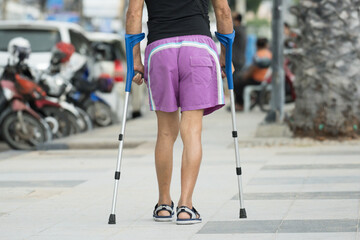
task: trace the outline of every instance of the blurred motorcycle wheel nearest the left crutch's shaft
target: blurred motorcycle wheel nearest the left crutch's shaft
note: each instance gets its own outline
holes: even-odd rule
[[[112,112],[105,103],[94,102],[87,107],[86,112],[99,127],[106,127],[112,124]]]

